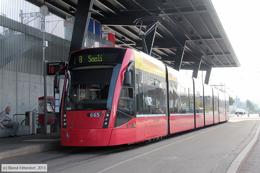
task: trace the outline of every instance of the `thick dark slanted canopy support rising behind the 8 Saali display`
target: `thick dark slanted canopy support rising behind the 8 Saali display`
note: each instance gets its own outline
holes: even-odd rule
[[[84,47],[93,2],[94,0],[78,0],[70,44],[70,52],[82,49]]]

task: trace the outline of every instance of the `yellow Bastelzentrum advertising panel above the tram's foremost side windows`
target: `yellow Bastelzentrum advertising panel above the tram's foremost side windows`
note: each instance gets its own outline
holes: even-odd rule
[[[161,61],[135,50],[134,55],[135,68],[166,78],[165,66]]]

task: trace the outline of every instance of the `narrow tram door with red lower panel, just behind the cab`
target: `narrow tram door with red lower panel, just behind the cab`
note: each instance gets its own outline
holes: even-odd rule
[[[144,74],[135,71],[136,141],[144,140]]]

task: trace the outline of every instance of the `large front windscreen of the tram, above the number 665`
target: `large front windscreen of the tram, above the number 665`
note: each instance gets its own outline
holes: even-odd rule
[[[117,76],[113,66],[72,69],[66,79],[65,110],[106,110],[113,97],[112,79]],[[114,86],[114,84],[112,84]]]

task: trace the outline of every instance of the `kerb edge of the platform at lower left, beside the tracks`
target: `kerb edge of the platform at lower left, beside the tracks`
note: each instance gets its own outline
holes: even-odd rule
[[[17,148],[17,149],[9,150],[6,152],[1,152],[0,160],[28,155],[28,154],[42,153],[42,152],[47,152],[47,151],[52,151],[52,150],[57,150],[57,149],[60,149],[60,141],[30,145],[30,146],[26,146],[23,148]]]

